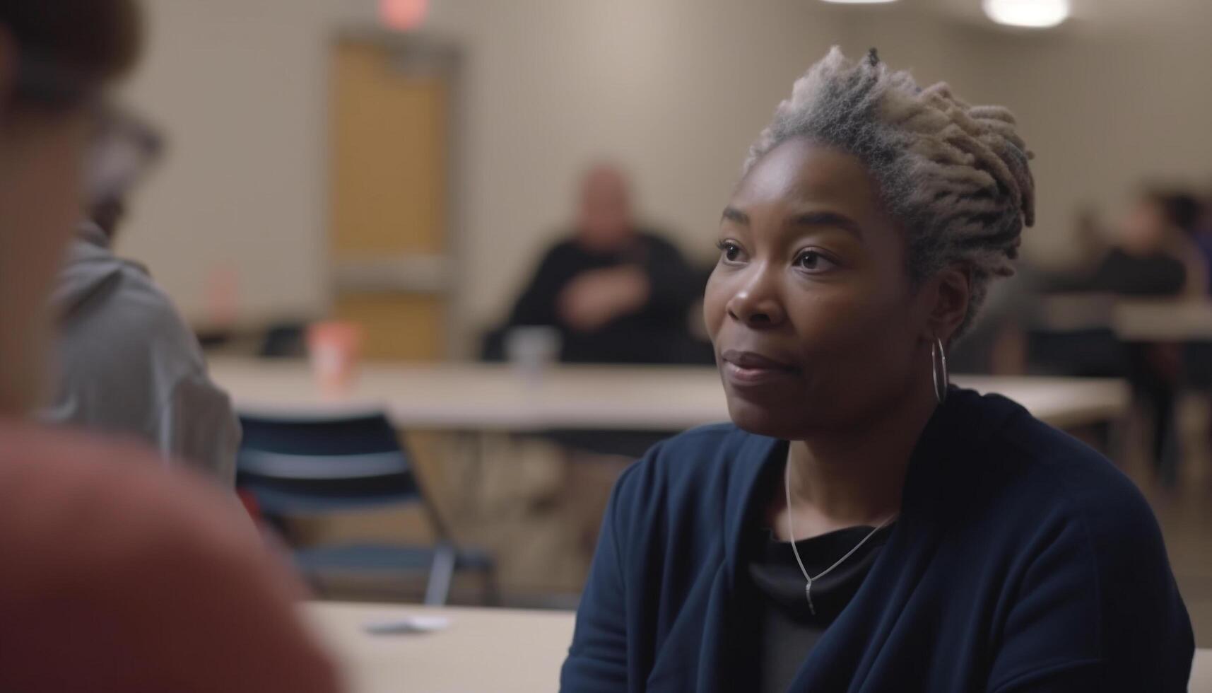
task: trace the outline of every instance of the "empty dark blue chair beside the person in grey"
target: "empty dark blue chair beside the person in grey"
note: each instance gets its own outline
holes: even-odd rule
[[[496,566],[482,551],[459,549],[423,493],[411,458],[381,413],[345,417],[241,415],[244,441],[236,485],[252,494],[271,522],[298,515],[360,511],[421,504],[438,541],[325,545],[295,551],[309,578],[322,570],[429,570],[427,604],[444,604],[456,570],[484,575],[486,601],[494,601]]]

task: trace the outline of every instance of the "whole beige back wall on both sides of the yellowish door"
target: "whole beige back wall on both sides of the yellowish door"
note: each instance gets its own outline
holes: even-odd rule
[[[1189,0],[1167,0],[1187,2]],[[136,205],[124,250],[187,312],[235,272],[246,312],[321,308],[325,41],[373,19],[370,0],[155,0],[132,101],[171,157]],[[1142,175],[1212,172],[1212,44],[1196,22],[1075,23],[1051,35],[974,29],[899,10],[810,0],[431,0],[427,28],[468,52],[461,279],[470,317],[505,308],[559,233],[572,181],[599,157],[634,174],[641,206],[710,257],[744,150],[791,80],[834,42],[877,45],[921,80],[947,76],[1021,115],[1039,152],[1033,248],[1065,251],[1085,201]],[[1188,18],[1207,17],[1191,2]],[[1145,17],[1147,18],[1147,17]],[[1202,27],[1208,23],[1204,22]],[[1201,78],[1204,78],[1201,80]]]

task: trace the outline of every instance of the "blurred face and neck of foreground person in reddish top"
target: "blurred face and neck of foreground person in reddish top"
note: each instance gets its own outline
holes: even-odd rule
[[[47,296],[80,218],[85,113],[0,118],[0,414],[41,394]]]

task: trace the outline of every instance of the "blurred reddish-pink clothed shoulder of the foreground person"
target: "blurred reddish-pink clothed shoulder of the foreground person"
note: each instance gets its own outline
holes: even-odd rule
[[[0,575],[0,641],[16,664],[0,672],[0,688],[44,683],[70,621],[73,637],[91,644],[62,653],[58,683],[38,689],[166,691],[189,676],[228,691],[264,672],[291,677],[284,689],[336,691],[331,665],[296,623],[293,578],[242,507],[159,465],[133,443],[0,422],[0,556],[18,568]],[[113,618],[80,619],[78,604]],[[159,636],[165,614],[181,637]],[[247,642],[268,649],[253,661]],[[185,661],[193,670],[177,666]]]

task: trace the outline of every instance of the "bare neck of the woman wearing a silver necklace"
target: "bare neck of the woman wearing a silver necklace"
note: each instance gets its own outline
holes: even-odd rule
[[[909,396],[870,422],[791,441],[787,453],[795,539],[856,524],[879,524],[901,510],[909,458],[934,411],[933,393]],[[778,484],[771,527],[787,534],[785,490]]]

